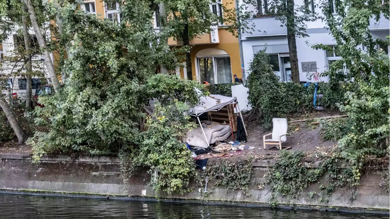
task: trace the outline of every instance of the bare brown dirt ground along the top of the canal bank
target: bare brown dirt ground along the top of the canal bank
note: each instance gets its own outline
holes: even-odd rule
[[[327,117],[339,115],[337,112],[313,112],[313,113],[302,113],[295,114],[289,119],[288,123],[288,133],[287,141],[282,144],[282,146],[291,147],[291,151],[301,150],[312,154],[314,157],[320,154],[326,154],[332,150],[332,148],[337,145],[337,142],[334,141],[324,141],[321,138],[320,128],[318,124],[310,124],[311,122],[316,122],[314,118]],[[246,121],[246,130],[248,132],[246,143],[241,143],[248,147],[255,147],[250,150],[245,148],[239,156],[244,157],[254,157],[255,159],[267,159],[272,157],[277,157],[280,154],[278,148],[272,148],[270,150],[264,150],[263,148],[263,135],[271,133],[272,131],[264,130],[261,128],[260,124],[254,122],[253,117],[255,115],[247,114],[244,116]],[[301,120],[308,119],[305,122],[290,122],[291,120]],[[235,136],[236,133],[234,133]],[[230,137],[224,142],[232,141]],[[271,147],[267,145],[266,148]],[[31,147],[28,145],[18,145],[16,140],[11,141],[2,141],[0,142],[0,153],[20,153],[20,154],[31,154]]]

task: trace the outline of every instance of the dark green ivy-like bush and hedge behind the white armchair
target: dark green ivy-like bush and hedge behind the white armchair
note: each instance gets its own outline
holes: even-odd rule
[[[264,127],[271,125],[272,118],[283,117],[289,113],[299,113],[313,110],[314,84],[305,88],[293,82],[280,82],[269,63],[265,51],[259,51],[250,66],[251,74],[246,86],[249,88],[248,99],[255,110],[259,112],[259,122]],[[318,83],[316,105],[326,108],[336,108],[337,102],[343,102],[343,92],[350,89],[347,83]]]

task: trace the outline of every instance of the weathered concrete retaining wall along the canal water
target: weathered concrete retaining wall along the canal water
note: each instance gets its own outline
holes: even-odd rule
[[[124,185],[120,177],[120,161],[117,157],[81,157],[72,160],[67,156],[43,157],[37,164],[32,163],[29,155],[0,154],[0,189],[3,191],[29,191],[67,194],[97,194],[100,197],[154,198],[156,194],[148,186],[150,180],[147,170],[138,170],[137,174]],[[192,193],[173,196],[159,194],[164,200],[196,201],[201,203],[236,204],[244,206],[269,207],[271,192],[259,184],[265,181],[264,175],[275,161],[254,162],[254,179],[247,194],[243,191],[229,191],[214,187],[211,181],[205,197],[195,182]],[[314,163],[314,167],[319,165]],[[390,193],[383,193],[379,186],[383,170],[373,170],[362,177],[355,200],[349,189],[339,189],[331,196],[326,196],[319,189],[320,184],[311,185],[303,191],[301,198],[288,199],[278,197],[279,207],[295,209],[317,209],[347,212],[376,212],[390,214]],[[389,212],[388,212],[389,211]]]

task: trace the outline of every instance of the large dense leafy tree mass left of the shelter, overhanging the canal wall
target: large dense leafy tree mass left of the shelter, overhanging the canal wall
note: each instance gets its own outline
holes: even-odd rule
[[[199,101],[195,82],[156,74],[177,66],[151,23],[150,2],[121,3],[121,23],[97,18],[64,4],[58,11],[64,32],[73,36],[63,71],[69,76],[58,96],[41,97],[35,123],[50,127],[28,140],[35,159],[44,154],[122,154],[131,166],[157,173],[159,191],[183,191],[193,163],[183,139],[192,123],[184,112]],[[156,101],[151,116],[144,108]],[[131,160],[130,160],[131,159]],[[131,171],[130,171],[131,173]]]

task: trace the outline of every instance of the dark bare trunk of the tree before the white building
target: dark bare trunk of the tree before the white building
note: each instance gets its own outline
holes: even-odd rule
[[[287,42],[289,43],[290,63],[291,63],[291,79],[294,83],[299,83],[299,67],[298,55],[296,53],[295,40],[295,18],[294,18],[294,0],[287,0],[286,11],[286,26],[287,26]]]

